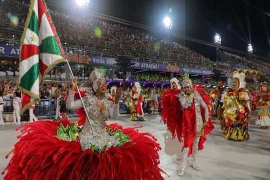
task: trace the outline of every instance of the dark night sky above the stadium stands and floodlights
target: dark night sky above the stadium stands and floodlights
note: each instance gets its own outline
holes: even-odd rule
[[[208,42],[219,33],[223,46],[246,51],[251,43],[256,55],[270,57],[269,0],[186,0],[185,6],[184,0],[91,0],[87,8],[157,29],[164,28],[163,19],[169,15],[172,32],[184,34],[186,29],[187,36]],[[186,46],[211,59],[215,56],[213,47],[188,41]]]

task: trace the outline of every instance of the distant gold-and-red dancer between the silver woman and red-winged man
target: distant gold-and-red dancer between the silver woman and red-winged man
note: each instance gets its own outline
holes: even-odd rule
[[[132,121],[145,121],[142,110],[143,97],[140,91],[141,91],[140,83],[135,82],[131,92],[132,104],[130,104],[130,114],[131,114],[130,120]]]

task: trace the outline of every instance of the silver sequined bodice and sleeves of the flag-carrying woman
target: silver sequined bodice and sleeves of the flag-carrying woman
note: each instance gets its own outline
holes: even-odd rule
[[[67,98],[66,107],[69,110],[77,110],[83,107],[80,99],[74,100],[74,95],[75,93],[71,91]],[[118,142],[107,134],[104,125],[109,116],[117,119],[119,115],[119,104],[113,104],[112,101],[107,100],[105,97],[100,101],[93,94],[83,97],[83,101],[94,128],[94,133],[92,133],[90,123],[86,119],[85,126],[79,134],[83,150],[90,148],[92,144],[96,145],[99,149],[103,146],[110,148],[117,145]],[[97,102],[104,104],[106,110],[104,114],[101,114],[99,107],[96,106]]]

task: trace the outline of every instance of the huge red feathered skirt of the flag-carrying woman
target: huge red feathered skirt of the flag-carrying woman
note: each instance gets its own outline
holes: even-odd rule
[[[110,131],[120,129],[130,141],[98,154],[91,149],[82,151],[79,140],[55,137],[61,123],[64,127],[70,124],[62,120],[23,125],[4,179],[164,179],[160,174],[164,171],[158,167],[161,148],[150,133],[107,125]]]

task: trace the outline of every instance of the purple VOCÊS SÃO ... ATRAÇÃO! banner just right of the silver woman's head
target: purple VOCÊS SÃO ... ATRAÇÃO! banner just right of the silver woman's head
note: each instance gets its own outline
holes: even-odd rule
[[[135,63],[131,67],[136,68],[136,69],[149,69],[149,70],[158,70],[158,71],[166,70],[165,64],[157,64],[157,63],[135,61],[135,60],[131,60],[131,62]],[[102,65],[102,66],[114,66],[114,64],[116,64],[116,60],[115,58],[91,56],[91,59],[89,60],[89,64]]]

